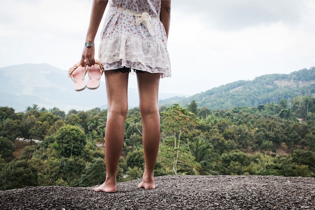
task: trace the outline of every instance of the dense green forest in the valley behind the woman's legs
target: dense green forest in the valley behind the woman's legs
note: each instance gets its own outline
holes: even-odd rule
[[[161,106],[154,175],[315,177],[315,98],[210,110],[196,101]],[[94,186],[105,180],[107,111],[0,107],[0,190],[25,186]],[[30,141],[20,155],[17,138]],[[118,181],[142,177],[139,108],[128,110]]]

